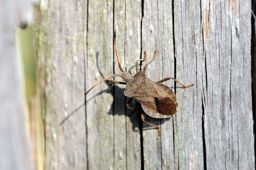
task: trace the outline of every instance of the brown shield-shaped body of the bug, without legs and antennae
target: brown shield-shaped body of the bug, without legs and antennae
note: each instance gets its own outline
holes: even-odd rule
[[[144,112],[153,118],[169,118],[177,112],[178,103],[172,89],[153,82],[142,71],[127,82],[124,95],[140,102]]]

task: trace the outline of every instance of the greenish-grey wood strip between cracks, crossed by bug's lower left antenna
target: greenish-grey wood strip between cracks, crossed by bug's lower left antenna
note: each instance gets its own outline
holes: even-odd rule
[[[113,74],[114,56],[113,1],[88,3],[86,89]],[[101,83],[86,100],[89,169],[113,169],[114,119],[110,84]]]

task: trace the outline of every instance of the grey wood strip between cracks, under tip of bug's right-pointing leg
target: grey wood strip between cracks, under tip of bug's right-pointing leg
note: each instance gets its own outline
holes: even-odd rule
[[[202,28],[200,2],[174,2],[174,43],[178,112],[174,117],[176,169],[203,169],[202,140]]]

